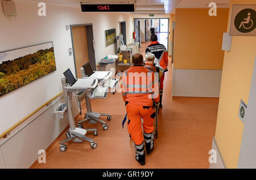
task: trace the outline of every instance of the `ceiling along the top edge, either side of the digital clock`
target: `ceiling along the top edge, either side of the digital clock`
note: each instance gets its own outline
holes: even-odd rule
[[[42,0],[28,0],[28,1],[42,2]],[[80,7],[80,2],[86,2],[86,1],[90,1],[90,2],[112,1],[113,2],[114,0],[44,0],[43,2],[53,4],[53,5]],[[118,0],[118,1],[125,1],[125,0]],[[175,8],[208,8],[208,4],[210,2],[213,2],[213,0],[137,0],[137,6],[158,6],[158,5],[163,6],[164,5],[164,9],[166,13],[171,13],[171,12],[174,12],[173,10]],[[214,0],[214,2],[217,3],[218,8],[229,8],[230,0]]]

